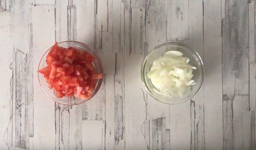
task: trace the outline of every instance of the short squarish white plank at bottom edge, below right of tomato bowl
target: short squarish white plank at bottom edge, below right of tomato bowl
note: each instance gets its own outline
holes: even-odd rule
[[[89,128],[89,127],[94,128]],[[83,120],[82,121],[82,149],[103,150],[104,145],[104,120]]]

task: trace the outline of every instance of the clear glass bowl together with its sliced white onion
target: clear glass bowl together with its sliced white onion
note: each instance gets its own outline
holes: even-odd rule
[[[170,78],[171,79],[173,78],[175,80],[180,78],[180,77],[175,77],[175,75],[174,75],[174,77],[171,76],[174,69],[176,69],[175,71],[177,71],[177,70],[179,71],[180,68],[182,68],[183,70],[181,70],[181,71],[185,70],[186,72],[188,72],[186,68],[184,69],[184,65],[179,65],[179,64],[175,65],[175,66],[183,66],[180,68],[172,65],[171,66],[172,69],[168,70],[168,73],[171,73],[171,74],[169,74],[170,76],[167,75],[168,81],[165,81],[165,78],[161,78],[161,83],[165,84],[165,87],[166,87],[165,89],[166,89],[166,92],[168,91],[168,93],[164,93],[163,91],[160,90],[161,88],[157,88],[156,86],[154,86],[157,84],[155,83],[155,81],[153,81],[153,78],[149,78],[150,76],[148,76],[148,73],[152,72],[152,69],[155,68],[155,65],[156,65],[155,60],[161,60],[159,58],[162,58],[163,56],[166,56],[166,54],[172,53],[172,52],[177,52],[178,55],[179,55],[179,52],[181,52],[180,55],[182,55],[182,54],[183,55],[177,56],[177,59],[185,58],[184,61],[185,62],[189,61],[188,65],[191,65],[194,68],[193,72],[192,72],[193,73],[192,77],[188,76],[189,78],[186,79],[186,81],[190,81],[190,83],[187,83],[186,86],[185,86],[185,84],[183,84],[183,87],[188,87],[188,88],[186,88],[187,90],[185,90],[186,92],[184,94],[180,94],[180,93],[172,94],[171,93],[171,91],[173,90],[172,88],[174,88],[174,90],[177,90],[180,87],[176,85],[176,82],[172,82],[172,81],[169,82]],[[166,58],[169,59],[169,57],[166,57]],[[170,57],[170,59],[172,59],[172,57]],[[154,65],[153,65],[153,63],[154,63]],[[160,63],[161,63],[162,67],[167,67],[167,66],[165,66],[166,62],[160,62]],[[174,62],[174,63],[176,63],[176,62]],[[162,74],[164,74],[163,76],[165,76],[165,74],[168,74],[168,73],[166,73],[166,70],[164,70],[165,73],[163,73],[162,70],[160,70],[160,71],[161,72],[160,72],[159,78],[162,77]],[[155,75],[155,77],[156,77],[156,75]],[[158,100],[159,102],[166,103],[166,104],[183,103],[183,102],[188,101],[191,98],[193,98],[200,90],[202,83],[203,83],[203,79],[204,79],[204,66],[203,66],[201,57],[199,56],[199,54],[196,51],[194,51],[193,49],[191,49],[190,47],[188,47],[187,45],[182,44],[182,43],[168,42],[168,43],[164,43],[164,44],[154,47],[146,55],[146,57],[142,63],[142,67],[141,67],[141,79],[142,79],[143,85],[146,88],[147,92],[154,99]],[[193,80],[193,81],[191,81],[191,80]],[[152,81],[154,84],[152,83]],[[193,82],[195,82],[195,83],[193,83]],[[168,87],[167,83],[170,83],[169,87]],[[173,83],[175,83],[175,84],[173,84]],[[191,83],[193,83],[193,84],[191,84]],[[176,87],[179,87],[179,88],[176,88]]]

